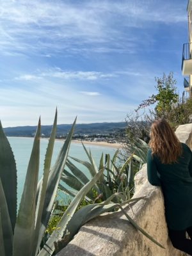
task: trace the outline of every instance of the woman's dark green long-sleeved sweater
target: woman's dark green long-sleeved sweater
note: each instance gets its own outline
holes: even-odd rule
[[[157,156],[147,154],[148,181],[161,186],[168,228],[184,230],[192,226],[192,153],[182,143],[182,156],[177,163],[162,164]]]

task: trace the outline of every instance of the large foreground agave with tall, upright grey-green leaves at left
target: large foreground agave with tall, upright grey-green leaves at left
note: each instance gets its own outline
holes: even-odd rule
[[[57,112],[54,118],[51,137],[45,154],[44,173],[38,182],[39,159],[40,159],[40,120],[36,130],[31,157],[29,159],[26,180],[22,198],[17,213],[17,169],[12,148],[8,142],[3,127],[0,123],[0,255],[1,256],[36,256],[51,255],[54,252],[54,243],[59,239],[58,234],[53,232],[46,246],[40,250],[40,244],[44,237],[47,223],[56,197],[56,191],[60,182],[61,174],[67,161],[68,150],[74,132],[74,125],[68,133],[67,139],[56,163],[51,168],[52,151],[56,136]],[[76,211],[82,198],[90,191],[93,184],[102,175],[103,170],[90,180],[65,212],[62,218],[63,230]]]

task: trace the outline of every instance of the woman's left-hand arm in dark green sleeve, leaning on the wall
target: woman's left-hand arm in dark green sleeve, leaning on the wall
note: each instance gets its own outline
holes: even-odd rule
[[[157,167],[154,159],[152,158],[151,150],[147,152],[147,177],[148,182],[153,186],[161,186],[161,180],[157,176]]]

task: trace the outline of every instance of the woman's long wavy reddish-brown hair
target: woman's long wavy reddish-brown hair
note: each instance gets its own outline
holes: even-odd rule
[[[156,154],[163,164],[177,163],[178,157],[182,154],[181,143],[164,119],[158,119],[151,125],[149,145],[152,156]]]

